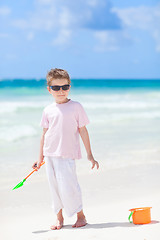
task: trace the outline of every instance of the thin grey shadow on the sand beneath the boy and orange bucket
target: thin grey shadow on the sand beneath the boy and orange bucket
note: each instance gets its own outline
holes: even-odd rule
[[[157,224],[160,223],[159,221],[151,221],[151,223],[149,224],[144,224],[144,225],[151,225],[151,224]],[[114,227],[127,227],[127,228],[136,228],[136,227],[141,227],[143,225],[135,225],[133,223],[129,223],[129,222],[110,222],[110,223],[94,223],[94,224],[87,224],[84,227],[78,228],[78,229],[101,229],[101,228],[114,228]],[[77,229],[77,228],[72,228],[72,225],[64,225],[63,229]],[[46,233],[49,231],[53,231],[50,229],[46,229],[46,230],[38,230],[38,231],[34,231],[32,233]]]

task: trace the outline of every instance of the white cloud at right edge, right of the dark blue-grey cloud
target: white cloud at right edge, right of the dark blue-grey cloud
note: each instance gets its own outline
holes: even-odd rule
[[[160,51],[160,5],[154,7],[140,6],[132,8],[118,9],[114,12],[122,19],[124,28],[141,29],[148,31],[156,43],[156,51]]]

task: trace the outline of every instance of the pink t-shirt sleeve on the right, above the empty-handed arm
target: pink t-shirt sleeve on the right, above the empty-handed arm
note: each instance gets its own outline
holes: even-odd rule
[[[81,128],[89,124],[89,119],[81,104],[78,104],[76,108],[77,108],[78,127]]]

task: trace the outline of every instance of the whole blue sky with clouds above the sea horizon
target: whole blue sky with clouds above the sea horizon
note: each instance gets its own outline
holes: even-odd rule
[[[160,78],[160,1],[0,1],[0,79]]]

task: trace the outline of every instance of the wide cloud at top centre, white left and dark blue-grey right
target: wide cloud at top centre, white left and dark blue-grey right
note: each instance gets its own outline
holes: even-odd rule
[[[112,12],[110,0],[35,0],[35,10],[26,19],[15,19],[15,27],[42,31],[58,28],[93,31],[120,28],[120,19]]]

